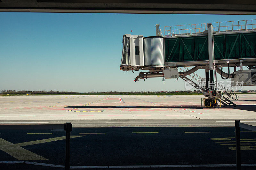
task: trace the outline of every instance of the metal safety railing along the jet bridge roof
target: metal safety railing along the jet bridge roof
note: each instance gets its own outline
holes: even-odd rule
[[[256,31],[256,19],[225,21],[212,23],[213,31],[217,33],[223,32],[239,32],[239,31]],[[205,23],[191,25],[164,26],[165,36],[182,36],[203,34],[207,30]]]

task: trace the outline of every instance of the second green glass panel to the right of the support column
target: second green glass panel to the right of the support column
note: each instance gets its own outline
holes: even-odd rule
[[[226,34],[226,57],[227,59],[242,58],[241,34]]]

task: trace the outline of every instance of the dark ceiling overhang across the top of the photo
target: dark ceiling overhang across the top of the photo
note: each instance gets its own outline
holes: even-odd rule
[[[256,0],[0,0],[0,12],[256,14]]]

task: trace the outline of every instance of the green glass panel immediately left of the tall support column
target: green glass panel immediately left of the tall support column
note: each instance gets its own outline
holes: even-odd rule
[[[196,36],[195,37],[195,60],[208,60],[208,37]]]

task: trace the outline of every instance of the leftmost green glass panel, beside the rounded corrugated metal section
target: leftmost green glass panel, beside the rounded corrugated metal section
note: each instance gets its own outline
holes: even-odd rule
[[[180,48],[179,38],[165,38],[164,39],[165,63],[180,61],[179,48]]]

